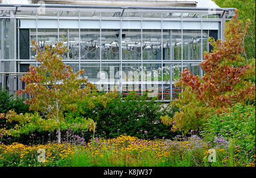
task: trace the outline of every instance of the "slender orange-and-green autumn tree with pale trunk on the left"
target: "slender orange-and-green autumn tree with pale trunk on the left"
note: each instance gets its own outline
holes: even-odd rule
[[[96,86],[82,77],[84,70],[76,73],[64,64],[62,56],[68,51],[61,42],[55,47],[46,45],[40,49],[39,45],[32,41],[33,50],[37,52],[36,61],[40,66],[30,66],[26,75],[20,81],[26,83],[23,90],[18,94],[27,93],[30,96],[26,103],[35,114],[16,114],[9,111],[1,114],[0,118],[6,122],[17,122],[15,128],[0,133],[4,135],[19,136],[33,131],[57,130],[58,142],[61,142],[61,130],[72,127],[74,130],[95,130],[96,123],[90,118],[69,118],[67,111],[76,112],[77,103],[86,101],[88,107],[93,107],[93,100],[107,104],[109,95],[117,96],[116,93],[98,94]],[[40,113],[40,114],[39,114]]]

